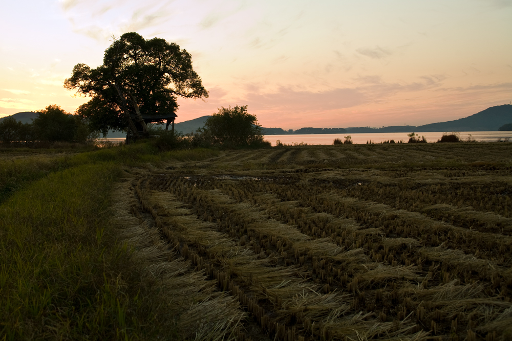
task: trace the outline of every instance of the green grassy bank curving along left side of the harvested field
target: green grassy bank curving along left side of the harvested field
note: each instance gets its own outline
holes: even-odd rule
[[[127,166],[217,152],[158,153],[141,144],[13,153],[0,154],[0,340],[172,335],[174,319],[165,319],[160,295],[113,231],[111,188]]]

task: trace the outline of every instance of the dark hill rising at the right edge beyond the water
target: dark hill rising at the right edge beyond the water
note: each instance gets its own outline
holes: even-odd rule
[[[416,131],[497,131],[502,125],[510,122],[512,105],[505,104],[492,106],[463,119],[425,124],[417,127]]]

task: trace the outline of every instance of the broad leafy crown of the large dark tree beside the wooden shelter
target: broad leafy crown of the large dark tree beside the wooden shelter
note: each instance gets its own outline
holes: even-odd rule
[[[177,96],[208,97],[186,50],[135,32],[114,39],[96,69],[76,64],[64,86],[92,97],[77,113],[89,118],[96,130],[129,130],[135,137],[139,130],[147,134],[142,115],[175,113]]]

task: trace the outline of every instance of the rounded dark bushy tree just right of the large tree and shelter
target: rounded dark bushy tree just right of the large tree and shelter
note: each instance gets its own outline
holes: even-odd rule
[[[202,133],[212,143],[227,147],[264,144],[261,125],[255,115],[247,112],[247,105],[221,107],[206,120]]]

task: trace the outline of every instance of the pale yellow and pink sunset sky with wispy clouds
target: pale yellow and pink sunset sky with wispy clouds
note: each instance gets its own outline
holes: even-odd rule
[[[422,125],[512,101],[512,0],[0,2],[0,117],[73,112],[73,66],[132,31],[192,55],[209,98],[177,122],[248,105],[264,127]]]

